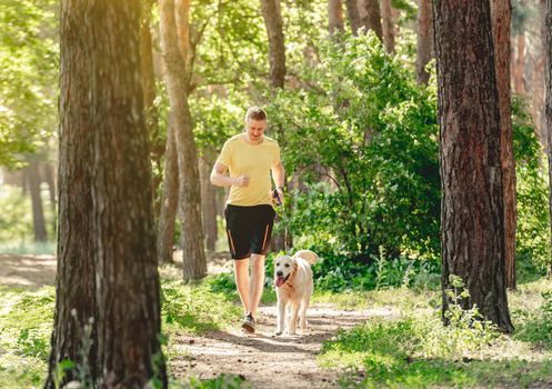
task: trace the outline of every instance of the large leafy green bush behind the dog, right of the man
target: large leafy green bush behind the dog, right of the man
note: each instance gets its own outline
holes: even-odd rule
[[[295,193],[291,229],[324,255],[364,263],[380,246],[391,258],[400,250],[434,256],[434,93],[418,89],[373,34],[327,42],[320,57],[304,64],[308,89],[282,92],[269,112],[287,129],[279,141],[288,171],[301,171],[308,187]]]

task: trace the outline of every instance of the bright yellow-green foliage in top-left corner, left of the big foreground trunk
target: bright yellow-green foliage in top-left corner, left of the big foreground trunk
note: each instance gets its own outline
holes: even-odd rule
[[[53,0],[0,2],[0,166],[20,166],[57,121]]]

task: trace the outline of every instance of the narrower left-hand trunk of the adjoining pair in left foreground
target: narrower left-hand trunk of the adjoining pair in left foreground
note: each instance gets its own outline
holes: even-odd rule
[[[71,360],[91,387],[98,366],[98,331],[92,235],[90,90],[88,48],[82,44],[86,12],[71,1],[60,10],[58,271],[53,332],[44,388],[53,389],[58,363]],[[78,282],[76,282],[78,280]],[[87,327],[88,326],[88,327]],[[68,370],[61,386],[81,378]]]

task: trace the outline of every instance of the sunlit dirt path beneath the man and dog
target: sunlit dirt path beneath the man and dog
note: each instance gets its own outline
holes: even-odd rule
[[[321,342],[338,328],[351,328],[370,317],[389,316],[385,309],[340,311],[311,307],[304,336],[273,335],[275,308],[262,307],[255,335],[240,329],[213,331],[204,336],[181,336],[179,357],[172,358],[177,377],[213,378],[220,373],[241,375],[252,388],[338,388],[338,371],[321,369],[315,361]]]

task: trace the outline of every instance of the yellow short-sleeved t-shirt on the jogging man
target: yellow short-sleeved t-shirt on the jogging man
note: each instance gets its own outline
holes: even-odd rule
[[[233,136],[222,147],[217,159],[228,167],[230,177],[249,176],[248,187],[232,186],[227,203],[233,206],[271,205],[270,169],[280,161],[280,146],[267,136],[260,144],[250,144],[243,132]]]

